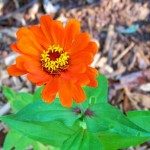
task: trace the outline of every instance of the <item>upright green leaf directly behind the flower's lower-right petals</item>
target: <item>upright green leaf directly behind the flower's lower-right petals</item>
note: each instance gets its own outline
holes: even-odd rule
[[[87,108],[88,105],[94,103],[105,103],[107,102],[107,94],[108,94],[108,81],[107,78],[103,74],[99,74],[97,76],[98,86],[96,88],[92,88],[89,86],[84,87],[84,91],[86,93],[86,101],[82,103],[84,108]]]

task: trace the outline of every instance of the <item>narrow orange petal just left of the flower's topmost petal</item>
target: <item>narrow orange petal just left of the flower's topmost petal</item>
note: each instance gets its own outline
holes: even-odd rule
[[[32,33],[37,37],[37,40],[40,42],[40,44],[47,49],[48,46],[50,45],[50,43],[48,42],[48,40],[45,38],[41,27],[37,26],[37,25],[33,25],[29,27],[29,30],[32,31]]]

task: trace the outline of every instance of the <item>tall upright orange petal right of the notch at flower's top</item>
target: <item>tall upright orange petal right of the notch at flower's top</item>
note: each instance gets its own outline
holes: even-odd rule
[[[70,48],[74,38],[80,33],[80,23],[75,19],[70,19],[65,27],[64,49]]]

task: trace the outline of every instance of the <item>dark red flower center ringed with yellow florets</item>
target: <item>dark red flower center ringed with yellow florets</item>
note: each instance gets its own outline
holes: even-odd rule
[[[68,59],[68,53],[64,52],[59,45],[50,45],[41,54],[43,69],[52,75],[59,75],[61,71],[65,71],[69,65]]]

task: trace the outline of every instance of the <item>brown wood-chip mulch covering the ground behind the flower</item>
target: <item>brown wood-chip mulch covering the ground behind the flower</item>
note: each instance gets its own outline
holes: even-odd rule
[[[109,103],[123,112],[150,109],[150,1],[149,0],[0,0],[0,115],[11,113],[1,86],[33,92],[23,77],[10,77],[7,66],[17,56],[9,45],[21,26],[38,24],[49,13],[66,23],[81,22],[99,46],[93,67],[109,80]],[[8,128],[0,123],[0,147]],[[130,150],[150,150],[150,143]]]

